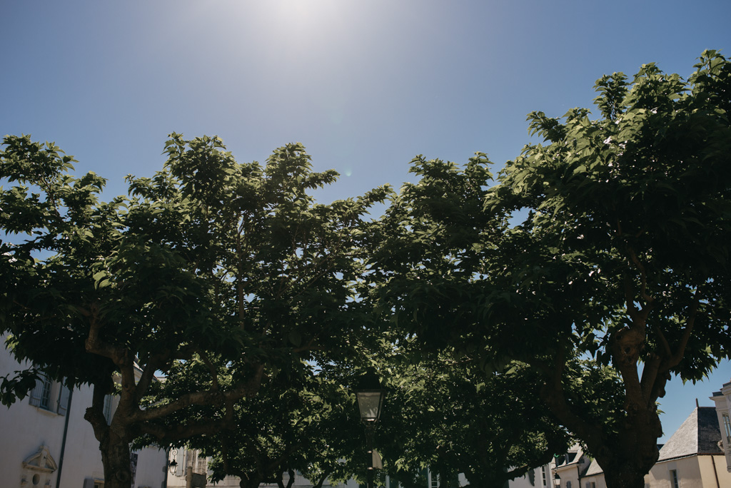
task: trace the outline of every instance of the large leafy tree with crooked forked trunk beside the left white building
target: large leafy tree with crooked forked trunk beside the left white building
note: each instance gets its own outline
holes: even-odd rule
[[[129,198],[108,203],[105,180],[69,175],[74,159],[56,145],[5,137],[0,154],[0,178],[12,183],[0,193],[2,332],[18,359],[94,387],[86,419],[109,488],[129,486],[135,438],[165,446],[230,427],[233,405],[265,371],[344,354],[348,332],[360,333],[347,304],[368,235],[362,216],[387,194],[316,204],[307,192],[337,175],[312,172],[300,144],[263,167],[238,164],[217,137],[172,134],[165,150],[162,171],[129,176]],[[194,358],[208,375],[162,394],[156,373]],[[28,378],[4,378],[4,401]],[[107,394],[120,397],[110,424]],[[196,417],[200,406],[215,413]],[[192,422],[167,424],[186,412]]]

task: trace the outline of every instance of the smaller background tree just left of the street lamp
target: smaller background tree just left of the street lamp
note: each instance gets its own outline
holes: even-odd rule
[[[166,388],[186,389],[201,376],[205,365],[188,362],[168,375]],[[225,371],[221,372],[221,376]],[[349,457],[352,439],[360,426],[354,419],[352,394],[336,381],[325,378],[314,365],[303,365],[296,376],[264,378],[259,394],[234,405],[234,427],[189,438],[186,444],[213,457],[208,465],[211,481],[237,476],[242,488],[263,482],[284,487],[283,473],[303,473],[316,486],[329,476],[349,478],[340,460]],[[200,416],[215,413],[199,408]],[[170,418],[170,423],[190,422],[190,416]]]

